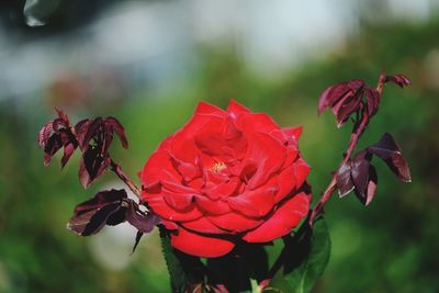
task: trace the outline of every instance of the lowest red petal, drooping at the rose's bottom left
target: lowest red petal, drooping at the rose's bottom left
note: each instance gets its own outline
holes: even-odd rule
[[[229,240],[206,237],[180,228],[177,235],[171,234],[171,246],[191,256],[215,258],[232,251],[235,244]]]

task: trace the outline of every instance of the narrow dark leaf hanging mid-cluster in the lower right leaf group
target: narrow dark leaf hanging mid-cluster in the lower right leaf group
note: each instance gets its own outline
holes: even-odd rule
[[[369,183],[370,158],[368,153],[362,150],[358,153],[351,162],[351,177],[357,196],[367,198]]]

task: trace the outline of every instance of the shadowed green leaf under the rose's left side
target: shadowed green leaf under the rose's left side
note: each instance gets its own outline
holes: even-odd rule
[[[169,232],[160,227],[161,249],[173,293],[193,292],[204,284],[204,266],[200,258],[185,255],[171,246]]]

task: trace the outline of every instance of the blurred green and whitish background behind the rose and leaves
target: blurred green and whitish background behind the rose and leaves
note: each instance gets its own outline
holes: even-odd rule
[[[354,195],[327,205],[333,250],[315,292],[439,292],[439,1],[68,1],[0,2],[0,292],[169,292],[153,233],[131,256],[135,230],[82,238],[65,228],[75,204],[103,188],[78,181],[78,156],[43,167],[36,134],[55,116],[113,115],[128,150],[112,154],[133,178],[195,104],[230,98],[303,125],[301,149],[317,199],[350,126],[317,117],[329,84],[381,70],[413,87],[385,89],[360,148],[391,132],[413,183],[376,161],[370,206]]]

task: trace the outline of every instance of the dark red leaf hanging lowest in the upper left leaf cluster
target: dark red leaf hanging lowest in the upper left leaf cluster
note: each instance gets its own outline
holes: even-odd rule
[[[79,180],[82,187],[90,187],[110,165],[108,156],[102,157],[98,147],[89,147],[79,162]]]

